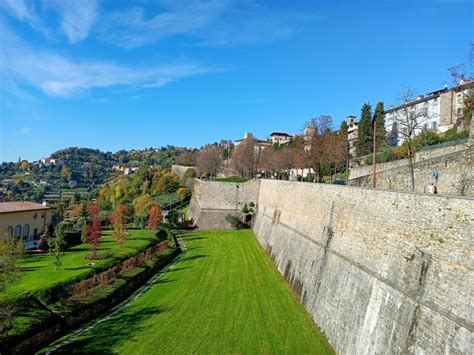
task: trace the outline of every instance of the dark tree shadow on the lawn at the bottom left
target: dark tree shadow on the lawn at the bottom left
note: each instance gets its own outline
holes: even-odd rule
[[[112,354],[117,347],[130,341],[133,336],[148,328],[145,321],[156,314],[166,312],[166,308],[146,307],[133,313],[120,312],[85,332],[79,339],[64,345],[55,354]]]

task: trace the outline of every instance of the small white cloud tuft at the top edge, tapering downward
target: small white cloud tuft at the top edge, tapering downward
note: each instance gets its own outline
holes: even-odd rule
[[[70,43],[80,42],[87,37],[99,12],[96,0],[50,0],[47,5],[59,13],[61,29]]]

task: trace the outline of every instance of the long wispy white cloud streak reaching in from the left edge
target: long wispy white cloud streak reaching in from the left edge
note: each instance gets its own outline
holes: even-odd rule
[[[192,75],[229,68],[195,62],[131,67],[105,61],[74,61],[65,56],[31,48],[0,21],[0,74],[22,85],[30,85],[50,96],[72,97],[92,89],[124,86],[160,87]]]

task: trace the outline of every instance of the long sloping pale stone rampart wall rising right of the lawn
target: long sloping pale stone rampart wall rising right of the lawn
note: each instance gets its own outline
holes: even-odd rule
[[[219,216],[227,197],[200,188]],[[474,199],[274,180],[257,193],[255,235],[337,353],[472,352]]]

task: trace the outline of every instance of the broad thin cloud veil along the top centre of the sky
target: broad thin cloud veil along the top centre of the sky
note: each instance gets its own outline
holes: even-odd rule
[[[319,18],[287,8],[269,8],[255,1],[161,1],[159,10],[134,7],[104,14],[102,40],[135,48],[184,35],[201,46],[254,45],[292,37],[298,26]],[[150,16],[151,15],[151,16]]]

